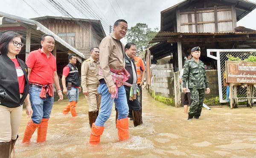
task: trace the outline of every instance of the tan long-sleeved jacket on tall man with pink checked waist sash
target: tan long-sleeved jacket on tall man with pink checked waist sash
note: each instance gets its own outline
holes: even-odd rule
[[[99,79],[104,78],[108,87],[113,86],[114,82],[110,75],[110,68],[120,69],[124,67],[123,57],[125,46],[111,33],[103,38],[99,44],[99,51],[99,63],[103,72],[103,76],[99,76]]]

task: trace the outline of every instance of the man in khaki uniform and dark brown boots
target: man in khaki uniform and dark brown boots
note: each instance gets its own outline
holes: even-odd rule
[[[90,58],[85,60],[81,68],[81,86],[83,94],[89,104],[89,124],[95,122],[99,114],[99,106],[101,102],[101,95],[98,93],[99,86],[99,47],[92,47],[90,49]]]

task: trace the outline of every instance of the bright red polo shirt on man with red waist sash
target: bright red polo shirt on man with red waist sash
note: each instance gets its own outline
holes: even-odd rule
[[[31,73],[29,75],[29,82],[38,84],[52,84],[53,74],[57,71],[56,59],[50,53],[49,58],[46,54],[41,51],[41,49],[32,51],[29,53],[26,64],[31,68]]]

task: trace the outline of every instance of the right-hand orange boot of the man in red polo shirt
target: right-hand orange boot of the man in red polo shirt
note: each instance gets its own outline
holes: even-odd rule
[[[49,118],[42,118],[41,124],[38,126],[38,135],[36,138],[38,143],[46,141],[48,120]]]

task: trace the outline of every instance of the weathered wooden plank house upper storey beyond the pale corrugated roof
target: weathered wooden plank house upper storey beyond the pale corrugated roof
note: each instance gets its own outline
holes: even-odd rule
[[[52,16],[36,17],[31,20],[46,26],[81,52],[86,59],[90,57],[90,48],[99,46],[106,36],[100,20]]]

